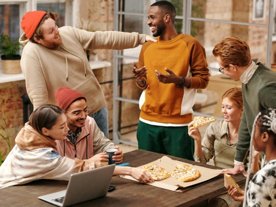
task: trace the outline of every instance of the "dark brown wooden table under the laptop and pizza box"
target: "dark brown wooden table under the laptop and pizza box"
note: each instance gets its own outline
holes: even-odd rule
[[[144,150],[136,150],[124,154],[124,162],[130,163],[132,167],[138,167],[143,164],[155,161],[161,158],[162,154],[153,153]],[[167,155],[169,156],[169,155]],[[187,162],[211,169],[221,169],[215,166],[193,162],[190,160],[169,156],[172,159]],[[246,177],[241,173],[233,176],[235,181],[241,185],[245,183]],[[52,206],[51,204],[39,200],[37,197],[60,190],[65,190],[68,181],[58,180],[38,180],[21,186],[11,186],[0,189],[0,206],[28,206],[28,207],[44,207]],[[152,206],[184,206],[190,207],[202,201],[206,201],[210,197],[215,197],[226,191],[224,188],[224,176],[218,175],[214,180],[197,184],[199,186],[191,188],[185,192],[174,192],[154,186],[138,183],[136,181],[114,176],[111,185],[115,185],[116,189],[108,192],[105,197],[87,201],[85,203],[75,205],[76,207],[152,207]],[[96,189],[91,189],[96,190]]]

